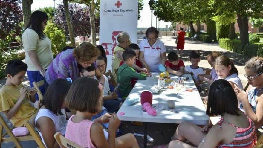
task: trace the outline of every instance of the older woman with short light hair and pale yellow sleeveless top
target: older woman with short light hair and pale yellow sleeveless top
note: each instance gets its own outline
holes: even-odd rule
[[[113,59],[112,59],[112,72],[113,75],[115,74],[115,69],[119,68],[120,62],[123,61],[123,51],[127,48],[129,48],[129,45],[131,44],[130,36],[127,32],[121,32],[117,37],[118,45],[115,46],[113,50]],[[132,68],[138,71],[145,71],[147,70],[145,68],[140,68],[137,65],[132,65]],[[117,82],[117,77],[115,78]]]

